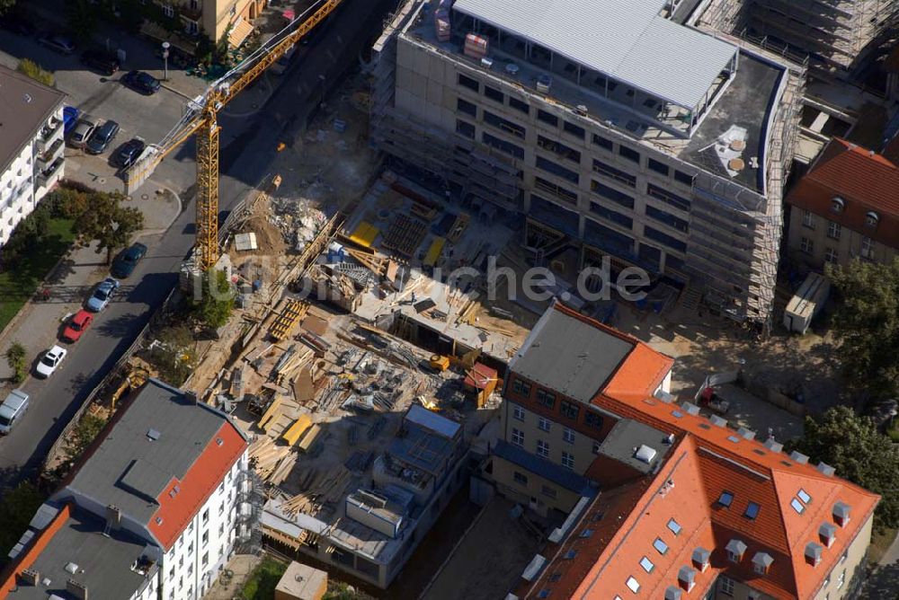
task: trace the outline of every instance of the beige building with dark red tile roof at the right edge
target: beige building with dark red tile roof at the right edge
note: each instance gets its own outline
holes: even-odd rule
[[[899,165],[834,138],[788,195],[788,254],[812,269],[899,254]]]

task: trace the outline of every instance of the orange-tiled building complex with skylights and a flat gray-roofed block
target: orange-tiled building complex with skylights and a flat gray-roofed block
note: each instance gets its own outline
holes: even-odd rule
[[[562,304],[512,358],[485,476],[562,525],[507,600],[854,597],[877,495],[674,402],[672,364]]]

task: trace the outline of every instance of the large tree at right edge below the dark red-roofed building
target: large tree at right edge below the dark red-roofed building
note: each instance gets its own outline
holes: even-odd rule
[[[827,270],[841,303],[833,315],[846,379],[877,397],[899,392],[899,258]]]

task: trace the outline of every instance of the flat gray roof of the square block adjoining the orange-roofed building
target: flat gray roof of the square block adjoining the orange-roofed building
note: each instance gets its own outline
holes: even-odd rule
[[[590,402],[633,348],[628,340],[550,308],[509,368],[576,401]]]

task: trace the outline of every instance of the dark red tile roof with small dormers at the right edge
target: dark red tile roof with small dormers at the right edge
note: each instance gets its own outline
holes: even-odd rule
[[[841,213],[831,210],[834,196],[846,201]],[[899,166],[886,156],[834,137],[787,201],[879,243],[899,247]],[[877,228],[866,225],[872,210],[880,216]]]

